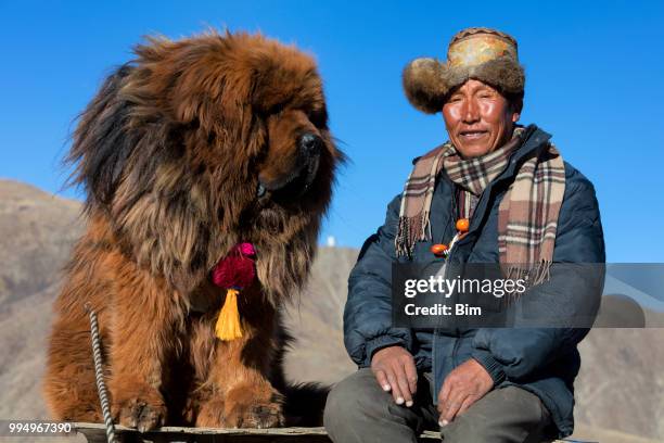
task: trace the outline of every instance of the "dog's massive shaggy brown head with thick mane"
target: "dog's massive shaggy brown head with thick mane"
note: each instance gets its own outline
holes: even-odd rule
[[[184,291],[240,241],[256,244],[264,286],[299,284],[343,161],[314,60],[246,34],[136,53],[74,135],[88,211]]]

